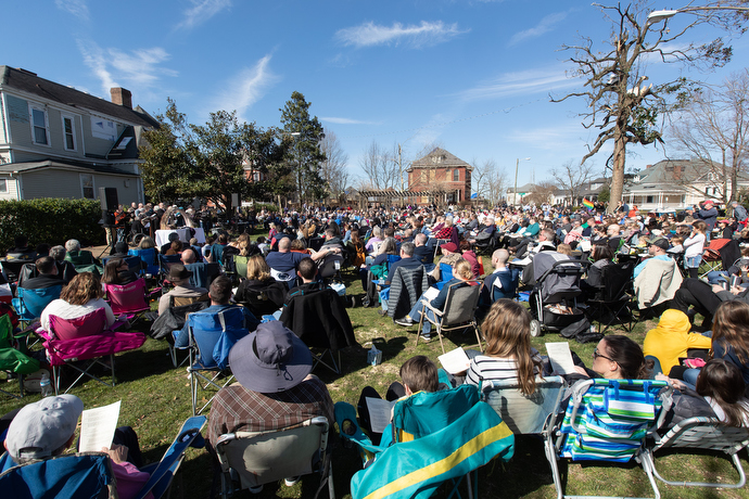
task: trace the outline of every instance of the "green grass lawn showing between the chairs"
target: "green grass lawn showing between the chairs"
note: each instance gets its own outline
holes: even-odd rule
[[[360,298],[361,285],[352,272],[344,274],[350,295]],[[359,299],[360,303],[360,299]],[[348,309],[356,337],[365,347],[376,342],[383,351],[383,362],[371,367],[366,362],[366,350],[346,350],[342,354],[343,374],[335,375],[323,368],[315,373],[322,379],[330,391],[333,401],[345,400],[356,404],[359,392],[366,385],[384,393],[393,381],[398,380],[401,364],[415,355],[426,355],[436,362],[442,354],[440,342],[429,344],[419,342],[415,345],[414,328],[402,328],[390,318],[380,317],[376,308]],[[652,328],[652,322],[638,323],[630,336],[642,344],[645,332]],[[137,328],[136,328],[137,329]],[[609,334],[611,334],[610,332]],[[563,341],[557,334],[533,338],[533,346],[545,353],[545,342]],[[446,340],[445,348],[456,345],[470,345],[475,342],[472,332],[461,335],[453,334]],[[570,345],[588,366],[595,344]],[[142,348],[118,355],[116,358],[117,385],[106,387],[88,382],[73,388],[72,393],[84,400],[86,408],[107,405],[122,400],[120,425],[132,426],[140,437],[141,449],[147,461],[161,459],[182,421],[191,415],[189,380],[185,368],[173,368],[165,342],[148,340]],[[17,392],[16,383],[4,383],[10,392]],[[23,400],[11,399],[0,394],[0,413],[5,413],[24,404],[39,399],[31,394]],[[747,465],[747,451],[741,451],[741,461]],[[337,443],[333,450],[333,474],[335,492],[340,498],[351,497],[351,476],[360,469],[360,461],[354,449],[343,448]],[[725,459],[711,456],[671,455],[661,457],[658,464],[663,474],[674,475],[680,479],[711,481],[736,478],[731,463]],[[642,469],[635,464],[624,466],[581,465],[571,463],[561,465],[567,470],[567,494],[598,494],[607,496],[648,496],[650,486]],[[541,440],[531,437],[519,437],[516,440],[515,457],[508,463],[492,463],[480,471],[480,498],[550,498],[555,497],[551,473],[544,457]],[[317,488],[317,477],[307,476],[294,487],[284,485],[266,485],[258,497],[313,497]],[[190,449],[181,472],[175,481],[179,494],[174,497],[203,498],[210,494],[212,484],[212,461],[202,449]],[[659,484],[665,498],[704,498],[704,497],[749,497],[749,490],[714,490],[670,487]],[[325,492],[323,492],[325,494]],[[436,497],[445,497],[439,491]],[[249,492],[246,497],[250,497]]]

